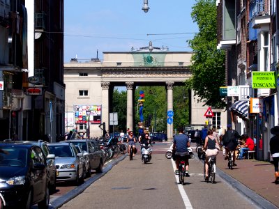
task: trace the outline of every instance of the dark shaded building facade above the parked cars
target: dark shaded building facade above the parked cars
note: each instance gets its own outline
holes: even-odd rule
[[[58,139],[64,91],[63,0],[1,1],[0,140]]]

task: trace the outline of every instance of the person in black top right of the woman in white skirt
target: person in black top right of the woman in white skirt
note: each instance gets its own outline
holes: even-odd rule
[[[241,136],[239,135],[239,132],[236,130],[232,130],[232,125],[228,124],[227,125],[227,132],[225,132],[223,136],[223,146],[225,146],[225,160],[229,158],[228,152],[229,151],[234,151],[234,160],[233,160],[233,166],[235,167],[235,160],[236,160],[236,155],[235,155],[235,150],[236,147],[239,144],[238,139]]]

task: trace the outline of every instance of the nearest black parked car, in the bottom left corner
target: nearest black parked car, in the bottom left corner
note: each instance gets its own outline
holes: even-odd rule
[[[50,176],[43,150],[34,144],[0,143],[0,193],[6,206],[48,208]],[[49,155],[48,157],[54,157]]]

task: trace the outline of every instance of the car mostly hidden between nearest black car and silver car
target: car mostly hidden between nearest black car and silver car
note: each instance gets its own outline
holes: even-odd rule
[[[8,141],[6,141],[8,142]],[[38,141],[9,141],[10,143],[29,143],[35,144],[42,148],[45,157],[47,157],[47,172],[50,173],[50,191],[55,192],[56,190],[56,164],[55,164],[55,155],[50,153],[50,148],[47,146],[47,142],[43,140]]]

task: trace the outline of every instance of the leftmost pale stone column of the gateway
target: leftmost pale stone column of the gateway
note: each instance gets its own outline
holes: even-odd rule
[[[102,86],[102,123],[105,122],[106,129],[110,127],[110,110],[109,110],[109,88],[110,82],[101,82]]]

